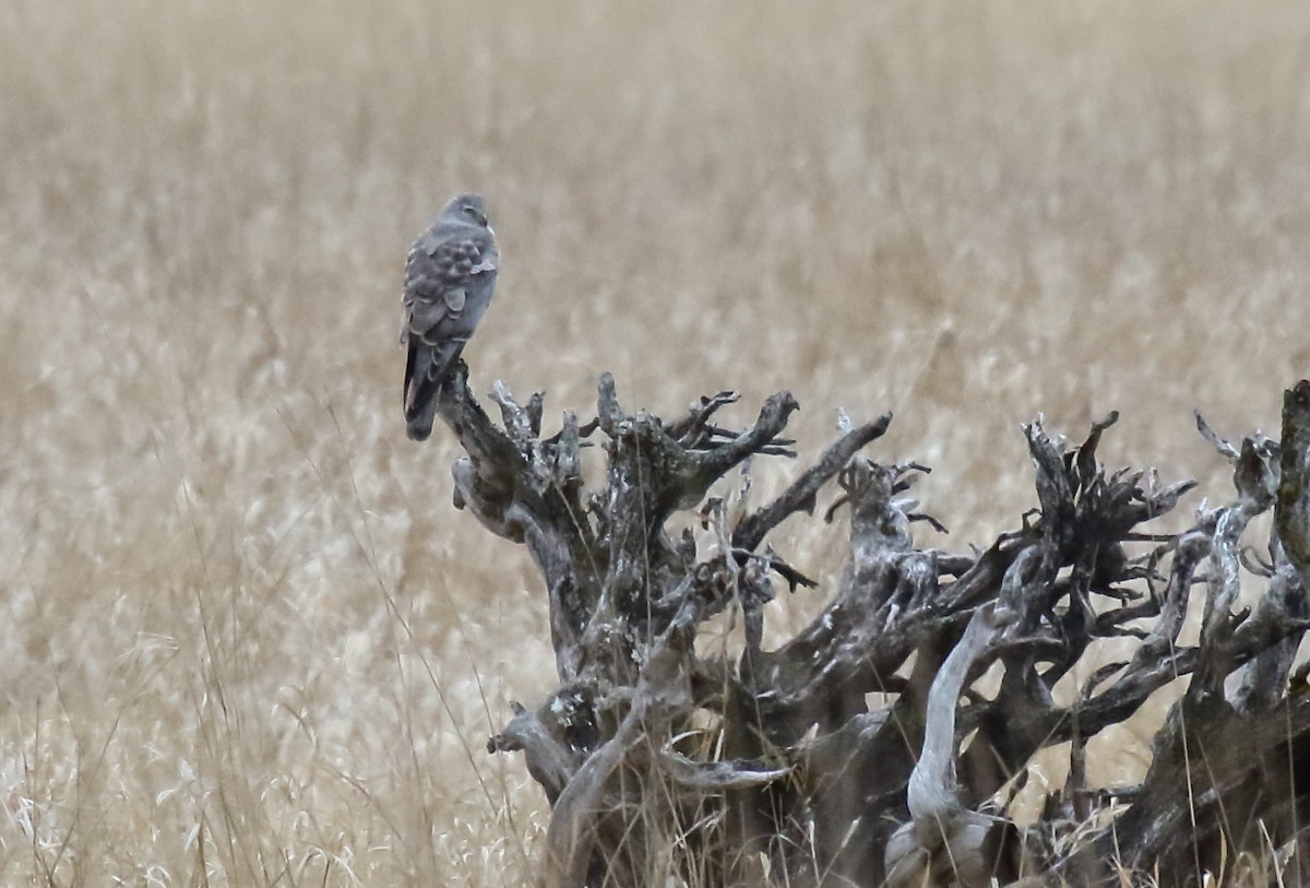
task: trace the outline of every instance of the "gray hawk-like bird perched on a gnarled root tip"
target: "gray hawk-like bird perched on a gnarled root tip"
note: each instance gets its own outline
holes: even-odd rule
[[[405,261],[405,423],[410,440],[432,434],[436,396],[495,292],[500,254],[477,194],[453,198]]]

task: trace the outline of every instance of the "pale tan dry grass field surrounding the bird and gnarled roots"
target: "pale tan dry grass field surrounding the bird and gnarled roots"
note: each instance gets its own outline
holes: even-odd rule
[[[531,872],[482,747],[553,686],[544,595],[400,411],[452,193],[504,255],[478,392],[790,388],[803,456],[891,409],[963,549],[1038,411],[1227,495],[1191,410],[1272,428],[1310,369],[1307,158],[1300,4],[7,0],[0,883]],[[831,582],[842,533],[779,545]]]

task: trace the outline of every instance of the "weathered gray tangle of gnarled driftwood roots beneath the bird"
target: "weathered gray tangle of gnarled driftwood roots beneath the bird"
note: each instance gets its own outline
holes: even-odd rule
[[[559,686],[489,743],[523,752],[550,800],[542,885],[1098,884],[1124,871],[1184,885],[1250,859],[1301,880],[1284,858],[1310,823],[1310,694],[1293,675],[1310,627],[1310,382],[1286,393],[1280,440],[1231,444],[1197,418],[1237,492],[1180,532],[1157,521],[1192,482],[1098,462],[1114,414],[1072,449],[1026,426],[1039,508],[969,554],[914,547],[912,523],[931,519],[901,495],[925,469],[861,456],[889,415],[749,511],[706,496],[752,456],[793,456],[787,393],[732,432],[715,423],[731,393],[665,423],[624,410],[605,375],[596,419],[565,414],[549,437],[540,394],[519,403],[498,384],[493,399],[500,426],[461,365],[438,411],[466,453],[455,504],[524,544],[549,595]],[[593,443],[607,475],[588,491]],[[814,585],[765,541],[812,516],[833,481],[828,520],[850,512],[842,578],[819,617],[765,650],[776,583]],[[698,507],[705,533],[669,530]],[[1242,541],[1269,509],[1262,558]],[[1238,608],[1243,578],[1263,588]],[[1184,644],[1193,595],[1200,640]],[[730,608],[740,657],[698,651],[700,627]],[[1102,664],[1110,638],[1136,639],[1127,661]],[[997,663],[982,694],[973,685]],[[1085,677],[1058,702],[1072,675]],[[1086,786],[1087,740],[1183,676],[1142,785]],[[870,706],[875,692],[892,702]],[[1068,782],[1018,829],[1007,805],[1027,764],[1064,743]]]

